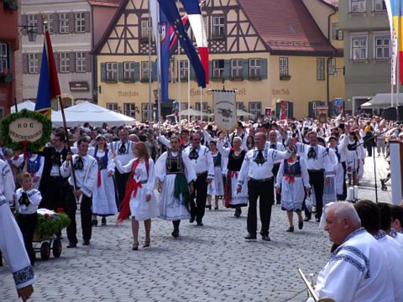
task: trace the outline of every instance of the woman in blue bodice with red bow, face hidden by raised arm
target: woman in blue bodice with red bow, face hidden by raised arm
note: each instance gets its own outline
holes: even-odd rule
[[[301,210],[305,192],[308,194],[309,175],[304,160],[294,153],[288,160],[280,164],[276,180],[276,193],[281,191],[281,209],[287,211],[288,229],[286,232],[294,232],[293,213],[298,215],[298,229],[304,226]]]

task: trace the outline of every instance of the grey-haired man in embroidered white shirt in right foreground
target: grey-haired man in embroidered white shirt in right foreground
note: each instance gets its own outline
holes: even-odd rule
[[[325,231],[339,247],[320,271],[315,286],[319,298],[337,302],[394,302],[386,256],[346,201],[326,207]],[[313,302],[309,298],[308,302]]]

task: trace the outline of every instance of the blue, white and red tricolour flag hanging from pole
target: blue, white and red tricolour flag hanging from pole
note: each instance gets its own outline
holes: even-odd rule
[[[187,13],[190,27],[196,39],[200,61],[205,69],[206,84],[209,84],[209,45],[207,44],[206,28],[198,0],[181,0],[181,3]]]

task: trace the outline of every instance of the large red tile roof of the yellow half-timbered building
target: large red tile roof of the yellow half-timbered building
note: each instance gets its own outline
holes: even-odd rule
[[[336,50],[302,0],[238,0],[272,54],[329,55]]]

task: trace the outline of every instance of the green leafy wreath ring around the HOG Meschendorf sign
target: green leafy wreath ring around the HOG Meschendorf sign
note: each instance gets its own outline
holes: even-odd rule
[[[10,123],[15,121],[16,119],[24,117],[32,118],[42,124],[42,136],[37,141],[15,142],[10,138]],[[50,134],[52,133],[52,122],[47,116],[42,115],[39,112],[23,109],[19,112],[9,114],[4,119],[2,119],[0,131],[0,138],[3,141],[4,145],[8,148],[11,148],[13,151],[21,151],[24,147],[26,147],[31,152],[38,152],[50,139]]]

